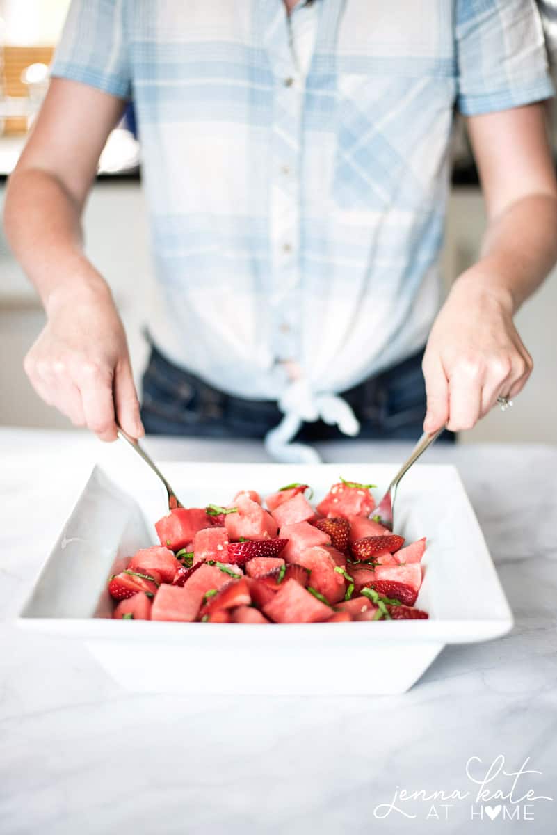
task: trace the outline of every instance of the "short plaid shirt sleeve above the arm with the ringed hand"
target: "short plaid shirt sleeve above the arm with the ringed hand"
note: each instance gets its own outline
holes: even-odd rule
[[[461,113],[506,110],[554,95],[534,0],[457,0],[455,8]]]

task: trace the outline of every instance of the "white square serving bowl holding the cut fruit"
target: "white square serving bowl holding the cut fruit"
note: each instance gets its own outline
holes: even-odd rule
[[[309,483],[319,502],[339,474],[378,485],[396,464],[170,463],[164,473],[185,506],[228,504],[240,488],[273,493]],[[107,578],[157,543],[165,494],[133,454],[93,469],[48,556],[18,625],[82,640],[130,691],[183,693],[401,693],[447,644],[508,632],[513,616],[459,474],[416,465],[399,488],[396,531],[428,538],[416,605],[429,620],[239,625],[111,620]]]

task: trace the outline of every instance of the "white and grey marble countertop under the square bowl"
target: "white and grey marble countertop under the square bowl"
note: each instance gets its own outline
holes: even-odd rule
[[[266,460],[256,443],[146,446],[162,462]],[[407,450],[321,447],[347,463]],[[459,468],[515,628],[447,647],[403,696],[327,698],[134,696],[78,641],[13,627],[97,455],[83,433],[0,430],[3,835],[554,835],[557,448],[429,450]]]

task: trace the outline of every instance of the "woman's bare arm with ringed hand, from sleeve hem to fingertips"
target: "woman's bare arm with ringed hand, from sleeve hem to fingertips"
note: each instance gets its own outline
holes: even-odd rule
[[[424,355],[426,431],[474,426],[514,397],[532,359],[513,323],[557,260],[557,181],[545,105],[468,119],[488,227],[479,261],[456,281]]]

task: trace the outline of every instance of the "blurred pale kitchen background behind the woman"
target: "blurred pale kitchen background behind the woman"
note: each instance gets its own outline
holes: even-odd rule
[[[48,63],[68,5],[69,0],[0,0],[0,211],[7,177],[46,90]],[[552,134],[557,159],[555,110]],[[71,159],[68,164],[72,164]],[[483,201],[460,125],[454,142],[453,188],[444,248],[447,286],[474,261],[483,229]],[[139,148],[125,125],[113,132],[100,160],[85,216],[85,235],[88,255],[113,287],[138,381],[147,357],[141,328],[143,313],[148,309],[152,266]],[[0,231],[0,425],[70,427],[66,418],[39,400],[23,373],[23,357],[43,321],[38,297]],[[493,412],[464,434],[463,443],[557,442],[557,270],[520,311],[517,324],[534,357],[534,374],[514,409],[504,416]]]

